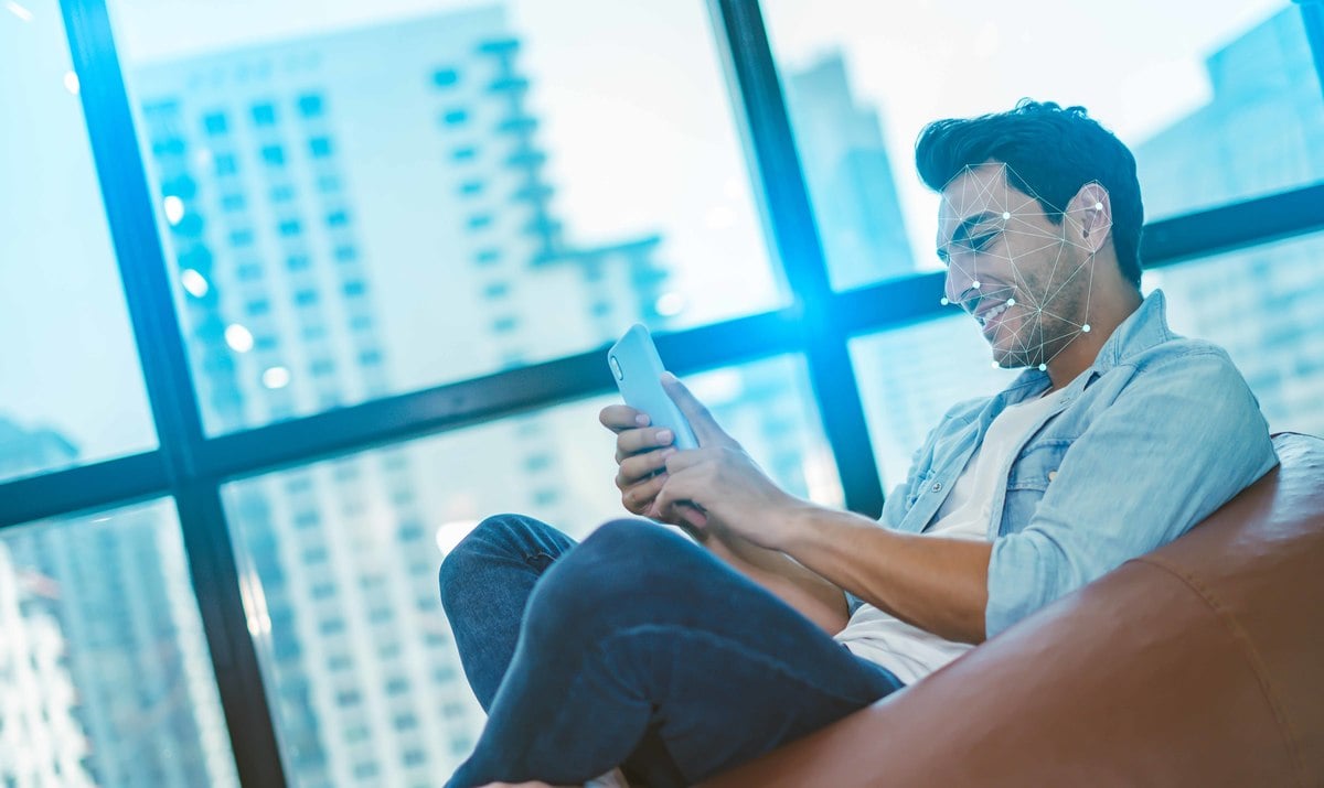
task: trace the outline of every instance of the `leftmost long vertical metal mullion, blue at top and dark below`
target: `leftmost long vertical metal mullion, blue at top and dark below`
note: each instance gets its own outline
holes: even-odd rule
[[[175,313],[154,200],[143,167],[106,0],[61,3],[79,81],[124,300],[160,443],[179,506],[193,594],[216,672],[234,762],[245,785],[285,784],[262,676],[248,636],[234,547],[217,483],[196,477],[203,444],[197,394]]]

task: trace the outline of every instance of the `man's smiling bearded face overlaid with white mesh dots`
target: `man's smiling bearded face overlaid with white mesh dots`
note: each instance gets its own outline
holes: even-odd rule
[[[947,300],[980,323],[993,360],[1041,366],[1090,331],[1091,253],[1076,222],[1050,221],[1006,173],[1005,164],[986,163],[943,189],[937,255],[947,263]]]

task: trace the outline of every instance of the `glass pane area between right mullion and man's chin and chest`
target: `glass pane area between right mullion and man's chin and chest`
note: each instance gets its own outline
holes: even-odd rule
[[[1021,374],[993,362],[978,325],[964,313],[857,337],[850,357],[888,493],[906,481],[911,456],[949,407],[996,394]]]

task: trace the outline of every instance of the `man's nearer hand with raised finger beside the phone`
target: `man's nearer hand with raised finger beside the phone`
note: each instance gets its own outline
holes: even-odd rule
[[[780,549],[781,533],[792,526],[788,516],[809,504],[773,484],[675,375],[663,375],[662,385],[690,422],[699,448],[665,457],[666,476],[649,517],[696,529],[711,524],[760,547]]]

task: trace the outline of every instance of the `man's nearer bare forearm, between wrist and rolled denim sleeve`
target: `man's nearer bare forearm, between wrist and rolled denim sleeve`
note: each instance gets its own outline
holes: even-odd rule
[[[794,517],[782,547],[808,570],[948,640],[985,640],[988,542],[903,534],[829,509]]]

